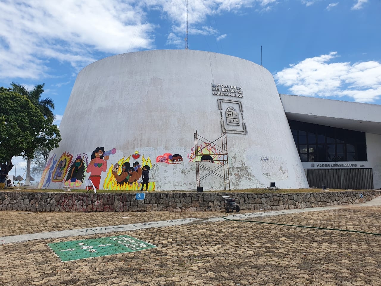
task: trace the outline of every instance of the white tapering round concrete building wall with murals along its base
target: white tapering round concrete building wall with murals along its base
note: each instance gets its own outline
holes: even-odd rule
[[[231,189],[308,188],[271,73],[233,56],[155,50],[96,61],[79,72],[59,129],[41,188],[85,188],[91,178],[141,190],[147,165],[148,190],[195,190],[196,130],[207,139],[197,140],[200,177],[204,168],[223,177],[215,140],[226,131]],[[200,185],[225,188],[215,174]]]

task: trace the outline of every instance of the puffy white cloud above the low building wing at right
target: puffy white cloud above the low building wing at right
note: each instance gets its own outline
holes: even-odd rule
[[[354,101],[373,102],[381,96],[381,63],[329,63],[337,52],[307,58],[274,75],[277,84],[294,95],[350,96]]]

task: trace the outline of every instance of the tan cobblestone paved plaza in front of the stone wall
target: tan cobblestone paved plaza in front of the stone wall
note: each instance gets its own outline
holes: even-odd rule
[[[1,211],[0,236],[224,215],[211,211]],[[245,220],[381,233],[381,206],[351,205]],[[47,245],[117,235],[130,235],[158,247],[61,262]],[[377,286],[381,285],[381,236],[223,220],[32,240],[0,245],[0,285]]]

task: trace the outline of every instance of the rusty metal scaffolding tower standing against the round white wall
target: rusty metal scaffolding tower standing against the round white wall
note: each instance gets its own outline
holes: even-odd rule
[[[219,141],[221,139],[221,141]],[[199,146],[199,141],[202,141],[202,143],[205,143],[205,146],[201,147]],[[219,146],[217,143],[221,142],[221,146]],[[202,152],[203,149],[207,148],[208,146],[213,146],[217,150],[218,153],[215,154],[208,154],[208,155],[218,155],[218,159],[213,159],[213,162],[218,161],[221,162],[221,164],[218,164],[217,167],[214,169],[208,168],[207,164],[202,165],[200,164],[201,157],[205,154]],[[230,191],[230,178],[229,178],[229,161],[227,159],[227,137],[226,132],[221,133],[221,136],[218,137],[214,141],[210,141],[196,133],[194,133],[194,147],[195,147],[195,162],[196,162],[196,180],[197,180],[197,187],[200,187],[200,183],[203,179],[207,178],[209,175],[213,174],[217,177],[224,180],[224,190],[226,190],[226,187],[229,187]],[[200,177],[200,169],[206,170],[207,173],[202,175]],[[221,169],[223,169],[223,174],[221,175]],[[217,172],[219,171],[219,172]]]

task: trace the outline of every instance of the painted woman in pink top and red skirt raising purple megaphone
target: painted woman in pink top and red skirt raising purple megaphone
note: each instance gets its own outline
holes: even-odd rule
[[[99,190],[101,183],[101,174],[107,170],[107,160],[109,156],[115,154],[117,149],[113,148],[109,151],[104,151],[104,147],[97,147],[91,154],[90,164],[87,166],[86,172],[90,173],[89,179],[93,185]]]

